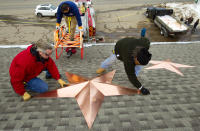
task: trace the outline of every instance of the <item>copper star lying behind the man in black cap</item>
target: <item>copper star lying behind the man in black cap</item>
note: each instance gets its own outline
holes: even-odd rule
[[[175,72],[181,76],[183,76],[183,73],[180,72],[180,70],[178,69],[179,67],[184,67],[184,68],[188,68],[188,67],[194,67],[194,66],[189,66],[189,65],[182,65],[182,64],[177,64],[177,63],[173,63],[171,62],[169,59],[166,61],[150,61],[149,63],[154,64],[151,67],[147,67],[145,69],[167,69],[170,70],[172,72]]]

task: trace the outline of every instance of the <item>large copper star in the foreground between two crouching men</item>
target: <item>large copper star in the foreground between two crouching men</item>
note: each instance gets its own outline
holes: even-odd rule
[[[140,93],[136,89],[111,84],[114,74],[115,70],[93,79],[87,79],[66,72],[70,86],[49,91],[37,97],[75,97],[88,127],[91,128],[104,96]]]

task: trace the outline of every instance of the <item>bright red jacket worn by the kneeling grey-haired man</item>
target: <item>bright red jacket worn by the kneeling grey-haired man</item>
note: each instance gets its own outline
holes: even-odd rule
[[[17,54],[10,65],[10,82],[19,95],[25,93],[24,82],[37,77],[45,69],[50,72],[54,79],[58,80],[60,78],[56,64],[51,57],[44,63],[37,61],[36,56],[30,52],[32,46]]]

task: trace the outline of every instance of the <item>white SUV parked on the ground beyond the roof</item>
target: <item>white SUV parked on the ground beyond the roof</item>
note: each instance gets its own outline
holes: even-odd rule
[[[42,5],[37,5],[35,8],[35,15],[38,17],[43,17],[43,16],[55,16],[57,13],[57,8],[56,6],[52,4],[42,4]]]

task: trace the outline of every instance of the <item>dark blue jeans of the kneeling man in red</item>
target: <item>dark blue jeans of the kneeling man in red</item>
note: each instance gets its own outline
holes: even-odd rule
[[[26,83],[26,89],[33,92],[44,93],[48,91],[48,85],[40,78],[35,77]]]

